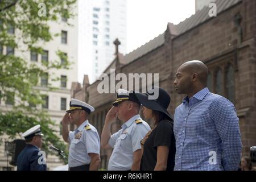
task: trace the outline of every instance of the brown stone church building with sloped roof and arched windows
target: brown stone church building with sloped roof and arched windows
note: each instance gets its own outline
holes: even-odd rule
[[[234,103],[240,118],[243,155],[256,146],[256,1],[216,1],[217,16],[208,15],[208,7],[174,25],[133,52],[123,56],[117,52],[110,68],[115,73],[159,73],[159,86],[171,95],[168,110],[174,114],[184,96],[173,86],[177,68],[188,60],[201,60],[209,67],[208,88]],[[100,94],[97,86],[74,83],[72,97],[94,106],[90,122],[101,135],[105,115],[115,94]],[[112,126],[115,132],[120,122]],[[101,168],[107,168],[112,151],[101,150]]]

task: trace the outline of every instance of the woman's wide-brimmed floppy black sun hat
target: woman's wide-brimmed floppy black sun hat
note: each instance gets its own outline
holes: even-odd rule
[[[158,92],[158,97],[155,98]],[[171,97],[166,90],[155,86],[148,90],[147,93],[136,93],[133,94],[138,98],[139,102],[147,107],[148,109],[157,110],[164,113],[169,119],[174,119],[172,115],[167,111],[167,108],[171,102]]]

